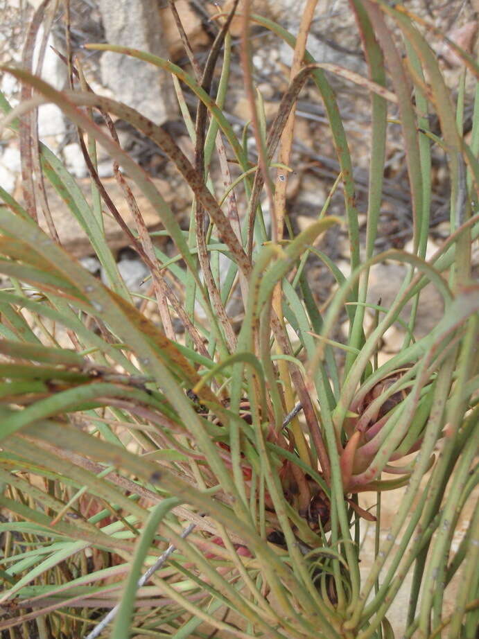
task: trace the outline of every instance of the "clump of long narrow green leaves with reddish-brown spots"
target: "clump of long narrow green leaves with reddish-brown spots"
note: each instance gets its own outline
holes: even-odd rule
[[[325,65],[302,49],[306,17],[295,40],[267,19],[247,11],[243,16],[243,71],[254,110],[249,126],[260,150],[258,166],[250,164],[244,141],[222,111],[231,53],[225,17],[202,78],[151,54],[89,45],[172,73],[195,146],[194,164],[161,127],[130,107],[96,96],[83,80],[57,91],[28,68],[3,69],[35,91],[13,110],[1,97],[3,127],[19,135],[23,168],[31,170],[36,163],[37,182],[41,171],[87,232],[108,286],[40,229],[27,181],[25,209],[0,191],[0,272],[11,281],[0,291],[0,505],[8,514],[0,523],[0,579],[1,604],[10,612],[0,621],[1,630],[22,626],[28,636],[33,622],[41,638],[87,636],[119,601],[116,618],[112,614],[107,620],[112,624],[98,629],[103,637],[200,638],[218,631],[241,638],[389,639],[394,628],[388,609],[412,573],[404,636],[474,636],[477,512],[459,547],[454,550],[452,544],[478,482],[479,286],[471,279],[471,246],[479,234],[479,93],[467,142],[460,108],[428,46],[427,26],[382,1],[351,0],[351,8],[369,78],[349,78],[371,97],[364,252],[338,105]],[[269,127],[249,72],[247,30],[253,22],[285,40],[304,61],[293,68],[290,88]],[[391,37],[391,28],[401,34],[402,44]],[[223,69],[214,98],[211,80],[220,51]],[[476,62],[458,53],[467,73],[478,78]],[[81,69],[76,73],[82,77]],[[336,145],[340,175],[333,190],[342,184],[345,217],[328,215],[328,198],[311,227],[285,239],[281,198],[292,139],[288,118],[309,79],[324,103]],[[198,98],[195,125],[183,85]],[[458,103],[464,82],[461,87]],[[135,228],[125,230],[151,270],[161,325],[134,306],[98,207],[87,203],[61,161],[35,143],[30,115],[46,102],[58,105],[80,137],[88,137],[87,164],[98,193],[104,195],[95,143],[135,182],[175,243],[177,259],[155,249],[123,184],[136,220]],[[412,254],[374,252],[388,102],[397,105],[406,148]],[[111,126],[110,115],[130,123],[173,162],[194,194],[187,236],[155,184],[114,135],[94,123],[89,110]],[[448,160],[451,233],[426,261],[432,113],[442,130],[434,139]],[[236,180],[226,157],[240,167]],[[210,176],[216,158],[223,171],[221,187]],[[277,180],[270,177],[273,168]],[[116,175],[122,183],[119,171]],[[224,184],[232,186],[225,190]],[[271,236],[260,202],[263,187]],[[124,228],[114,205],[107,206]],[[349,277],[315,247],[317,238],[338,224],[349,234]],[[304,270],[310,253],[338,281],[323,315]],[[223,279],[219,254],[229,260]],[[408,265],[408,272],[392,304],[374,306],[376,324],[365,334],[369,269],[385,259]],[[444,316],[428,335],[415,339],[419,293],[430,282],[444,299]],[[238,334],[227,304],[235,290],[245,307]],[[399,315],[411,301],[403,348],[378,366],[382,336],[403,322]],[[204,321],[195,317],[198,306]],[[338,344],[334,328],[342,313],[349,317],[349,335]],[[184,324],[185,343],[173,331],[172,316]],[[71,348],[60,346],[60,331]],[[340,349],[346,351],[344,364]],[[403,465],[394,466],[403,457],[408,457]],[[385,480],[383,473],[394,473],[393,479]],[[381,540],[381,493],[405,485],[401,507]],[[360,506],[364,491],[377,492],[376,516]],[[367,520],[376,527],[376,557],[360,575],[359,539]],[[175,552],[170,548],[168,558],[162,557],[170,544]],[[159,557],[156,570],[138,588],[140,575]],[[458,571],[455,611],[447,615],[444,590]]]

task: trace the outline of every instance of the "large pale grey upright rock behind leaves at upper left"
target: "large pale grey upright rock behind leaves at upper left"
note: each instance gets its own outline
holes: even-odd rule
[[[168,58],[155,0],[99,0],[99,6],[107,42]],[[101,73],[116,100],[157,124],[175,118],[175,94],[166,71],[128,55],[106,51],[101,58]]]

